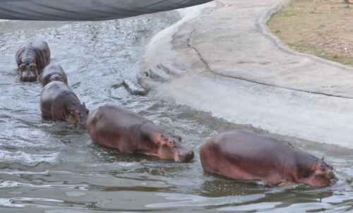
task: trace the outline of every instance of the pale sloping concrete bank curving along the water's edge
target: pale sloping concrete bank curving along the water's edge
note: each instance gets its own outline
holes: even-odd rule
[[[265,25],[285,1],[179,10],[146,45],[138,81],[193,109],[270,133],[353,149],[353,69],[287,49]]]

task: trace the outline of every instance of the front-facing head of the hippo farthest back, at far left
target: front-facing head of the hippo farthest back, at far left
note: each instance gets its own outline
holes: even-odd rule
[[[37,64],[35,62],[35,59],[25,59],[23,61],[18,61],[20,81],[30,82],[37,80],[38,71]]]

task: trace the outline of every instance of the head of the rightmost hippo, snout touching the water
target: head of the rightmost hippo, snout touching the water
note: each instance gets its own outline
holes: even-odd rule
[[[313,186],[328,186],[337,183],[338,178],[333,174],[333,166],[326,164],[323,159],[314,162],[310,174],[305,178],[304,183]]]

